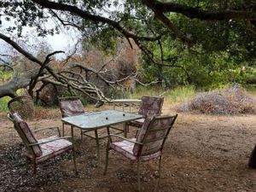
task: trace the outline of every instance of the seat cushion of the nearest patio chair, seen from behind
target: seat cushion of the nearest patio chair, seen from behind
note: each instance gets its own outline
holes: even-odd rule
[[[136,138],[132,138],[131,141],[135,142]],[[114,142],[114,143],[110,143],[109,147],[113,148],[113,150],[119,152],[120,154],[123,154],[125,157],[129,158],[130,160],[137,160],[137,156],[134,155],[132,152],[134,143],[127,142],[127,141]],[[154,154],[143,155],[141,156],[141,160],[151,160],[159,156],[160,156],[160,151]]]

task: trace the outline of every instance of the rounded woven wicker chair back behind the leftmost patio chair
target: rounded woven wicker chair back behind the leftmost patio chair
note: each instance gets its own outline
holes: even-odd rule
[[[31,96],[17,96],[8,102],[10,113],[19,113],[22,119],[32,119],[35,113]]]

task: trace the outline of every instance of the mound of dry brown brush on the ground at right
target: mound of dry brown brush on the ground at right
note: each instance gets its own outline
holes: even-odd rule
[[[233,84],[224,89],[199,93],[189,102],[181,104],[177,110],[223,115],[256,113],[256,100],[239,84]]]

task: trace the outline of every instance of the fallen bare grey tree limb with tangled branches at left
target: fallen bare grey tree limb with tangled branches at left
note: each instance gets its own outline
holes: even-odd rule
[[[0,97],[3,96],[16,96],[15,91],[20,88],[29,87],[30,94],[32,94],[32,89],[39,81],[43,81],[44,84],[54,84],[67,88],[70,92],[79,91],[85,96],[90,97],[93,100],[100,102],[110,102],[110,100],[104,96],[102,90],[98,89],[95,84],[91,83],[86,76],[82,75],[82,72],[95,74],[97,79],[102,80],[102,82],[113,87],[120,84],[126,79],[135,78],[137,74],[131,74],[123,79],[108,80],[104,77],[102,69],[107,66],[107,63],[103,64],[100,70],[96,70],[91,67],[84,67],[79,63],[72,63],[67,65],[61,71],[55,71],[54,68],[49,67],[50,57],[52,55],[62,53],[63,51],[55,51],[50,53],[45,57],[44,61],[38,60],[37,57],[22,49],[19,44],[16,44],[9,37],[0,33],[0,38],[11,44],[16,50],[18,50],[22,55],[25,55],[27,59],[37,63],[40,68],[35,68],[26,72],[17,73],[15,71],[13,78],[7,83],[0,86]],[[80,68],[80,73],[75,73],[73,69]],[[38,94],[38,92],[37,92]]]

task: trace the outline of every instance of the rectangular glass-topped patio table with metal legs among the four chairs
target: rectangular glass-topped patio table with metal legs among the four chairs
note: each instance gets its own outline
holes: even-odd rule
[[[73,128],[78,127],[82,131],[95,131],[96,133],[96,153],[97,161],[100,162],[100,144],[99,139],[105,137],[98,137],[97,130],[101,128],[106,128],[109,134],[109,128],[112,125],[126,123],[131,120],[141,119],[143,115],[136,113],[127,113],[123,111],[116,110],[104,110],[95,113],[84,113],[76,116],[70,116],[62,118],[61,120],[68,125],[71,125],[71,137],[73,139]],[[124,129],[125,131],[126,129]],[[108,137],[108,136],[107,136]]]

